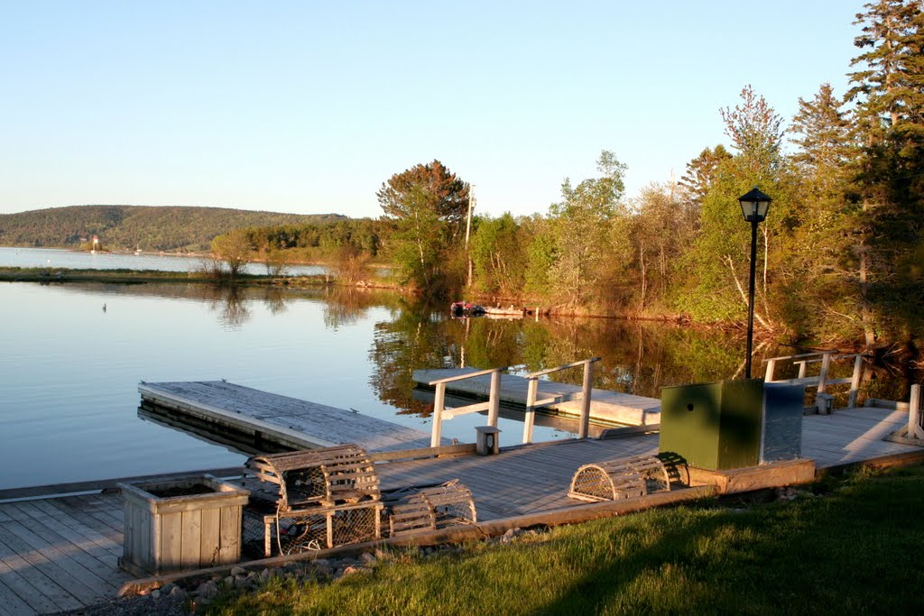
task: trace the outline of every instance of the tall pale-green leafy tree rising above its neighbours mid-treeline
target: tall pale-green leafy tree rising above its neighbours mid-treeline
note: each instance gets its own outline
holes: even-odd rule
[[[552,282],[572,306],[588,298],[599,278],[610,223],[625,189],[626,165],[613,152],[601,152],[597,170],[600,177],[583,180],[577,187],[565,178],[562,201],[550,209],[556,239]]]

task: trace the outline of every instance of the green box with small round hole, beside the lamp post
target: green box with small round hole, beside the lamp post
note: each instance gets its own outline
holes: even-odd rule
[[[758,465],[762,421],[762,379],[664,387],[660,450],[710,470]]]

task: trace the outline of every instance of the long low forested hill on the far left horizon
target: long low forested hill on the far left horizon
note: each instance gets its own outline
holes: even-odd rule
[[[0,246],[77,248],[99,236],[106,249],[202,250],[234,229],[334,223],[341,214],[282,214],[229,208],[75,205],[0,214]]]

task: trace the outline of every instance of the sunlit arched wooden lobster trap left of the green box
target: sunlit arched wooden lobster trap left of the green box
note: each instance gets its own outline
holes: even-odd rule
[[[579,501],[617,501],[671,489],[663,462],[652,455],[617,458],[577,469],[568,496]]]

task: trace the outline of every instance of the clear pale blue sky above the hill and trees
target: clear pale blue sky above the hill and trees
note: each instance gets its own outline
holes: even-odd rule
[[[0,213],[90,203],[379,216],[441,160],[545,213],[601,150],[626,196],[727,144],[750,83],[845,91],[860,0],[0,2]]]

